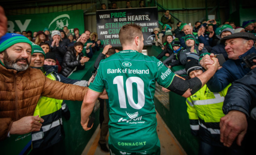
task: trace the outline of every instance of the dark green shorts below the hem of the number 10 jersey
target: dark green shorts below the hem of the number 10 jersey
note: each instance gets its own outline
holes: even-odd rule
[[[161,152],[159,139],[156,145],[152,149],[148,151],[142,151],[142,152],[120,151],[120,150],[117,150],[117,148],[115,148],[111,144],[109,144],[108,147],[109,147],[110,155],[160,155],[160,152]]]

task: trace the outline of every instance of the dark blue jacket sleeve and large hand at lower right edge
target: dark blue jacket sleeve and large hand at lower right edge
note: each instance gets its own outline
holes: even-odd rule
[[[255,67],[255,66],[254,66]],[[254,152],[256,145],[256,69],[232,83],[223,103],[221,142],[230,147],[233,141],[245,146],[246,154]],[[246,133],[246,134],[245,134]]]

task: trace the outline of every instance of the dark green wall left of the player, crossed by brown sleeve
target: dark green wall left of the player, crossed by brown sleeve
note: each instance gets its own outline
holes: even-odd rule
[[[94,62],[98,57],[98,54],[102,52],[97,51],[93,54],[93,58],[85,63],[84,70],[77,70],[73,72],[69,78],[70,79],[79,79],[79,80],[88,80],[92,71],[94,70]],[[81,121],[81,105],[82,101],[65,101],[69,106],[70,110],[70,119],[66,121],[63,119],[63,126],[65,131],[65,146],[61,148],[59,154],[63,155],[80,155],[84,150],[85,146],[91,139],[91,136],[95,132],[99,124],[99,110],[96,111],[96,118],[93,124],[93,128],[89,131],[84,131],[80,121]],[[59,149],[60,150],[60,149]]]

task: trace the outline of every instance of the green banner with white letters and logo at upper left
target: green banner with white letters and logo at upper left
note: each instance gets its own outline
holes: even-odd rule
[[[7,16],[7,19],[7,31],[10,33],[43,31],[45,27],[53,31],[63,29],[64,26],[67,26],[71,33],[74,33],[74,28],[78,28],[80,34],[84,31],[83,10]]]

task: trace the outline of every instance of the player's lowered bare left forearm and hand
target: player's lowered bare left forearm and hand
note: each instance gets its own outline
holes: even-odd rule
[[[100,96],[99,92],[95,92],[93,90],[88,90],[87,94],[85,95],[81,107],[81,125],[83,127],[83,130],[87,131],[90,130],[93,126],[90,128],[87,127],[88,121],[89,121],[89,115],[91,112],[93,112],[93,106]]]

